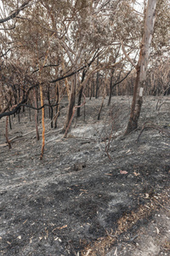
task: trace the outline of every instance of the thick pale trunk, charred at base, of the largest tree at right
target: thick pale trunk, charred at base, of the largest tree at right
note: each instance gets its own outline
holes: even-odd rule
[[[127,124],[127,130],[125,131],[125,135],[129,134],[131,131],[134,131],[138,127],[139,115],[143,102],[144,84],[146,82],[148,60],[150,56],[150,44],[156,21],[155,10],[156,0],[148,0],[144,20],[144,36],[142,39],[142,44],[140,46],[139,62],[136,67],[137,76],[133,90],[133,102],[131,106],[130,119]]]

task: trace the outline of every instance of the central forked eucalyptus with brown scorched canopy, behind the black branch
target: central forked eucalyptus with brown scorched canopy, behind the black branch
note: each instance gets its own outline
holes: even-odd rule
[[[119,2],[115,1],[114,6]],[[93,66],[91,64],[97,56],[101,53],[104,54],[105,49],[114,40],[111,37],[113,33],[111,33],[107,17],[113,9],[113,3],[111,1],[77,0],[44,1],[42,5],[51,19],[51,29],[55,31],[54,38],[58,40],[61,55],[65,56],[63,62],[68,60],[67,70],[70,69],[73,74],[71,87],[68,90],[69,106],[64,126],[65,131],[70,123],[77,91],[80,92],[78,101],[80,104],[82,90],[88,80],[85,79],[85,76],[88,78],[101,66],[101,62]],[[111,7],[111,10],[107,7]],[[54,79],[53,82],[56,81],[57,79]]]

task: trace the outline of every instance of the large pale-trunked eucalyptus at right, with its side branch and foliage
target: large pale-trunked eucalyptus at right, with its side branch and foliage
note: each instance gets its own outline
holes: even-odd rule
[[[166,21],[169,20],[169,16],[164,15],[164,8],[167,9],[169,15],[169,3],[167,2],[167,0],[148,0],[147,2],[147,6],[144,13],[143,37],[140,44],[139,61],[137,65],[133,63],[132,59],[130,59],[129,56],[126,54],[126,50],[124,49],[124,46],[122,44],[122,50],[124,55],[127,56],[127,59],[133,64],[137,72],[133,90],[133,102],[131,106],[131,113],[127,124],[127,130],[125,131],[125,135],[127,135],[129,132],[135,130],[138,127],[139,114],[143,102],[143,90],[146,84],[146,73],[150,57],[150,47],[154,35],[156,19],[158,21],[156,23],[155,44],[158,45],[158,48],[160,48],[160,45],[162,46],[162,44],[169,44],[169,31],[167,31],[166,26]]]

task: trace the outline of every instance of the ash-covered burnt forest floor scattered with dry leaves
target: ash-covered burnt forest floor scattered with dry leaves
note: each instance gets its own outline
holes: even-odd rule
[[[0,255],[170,255],[170,97],[144,97],[127,137],[132,98],[107,100],[97,120],[87,99],[67,138],[65,99],[57,129],[47,109],[43,160],[33,110],[13,118],[10,150],[0,120]]]

